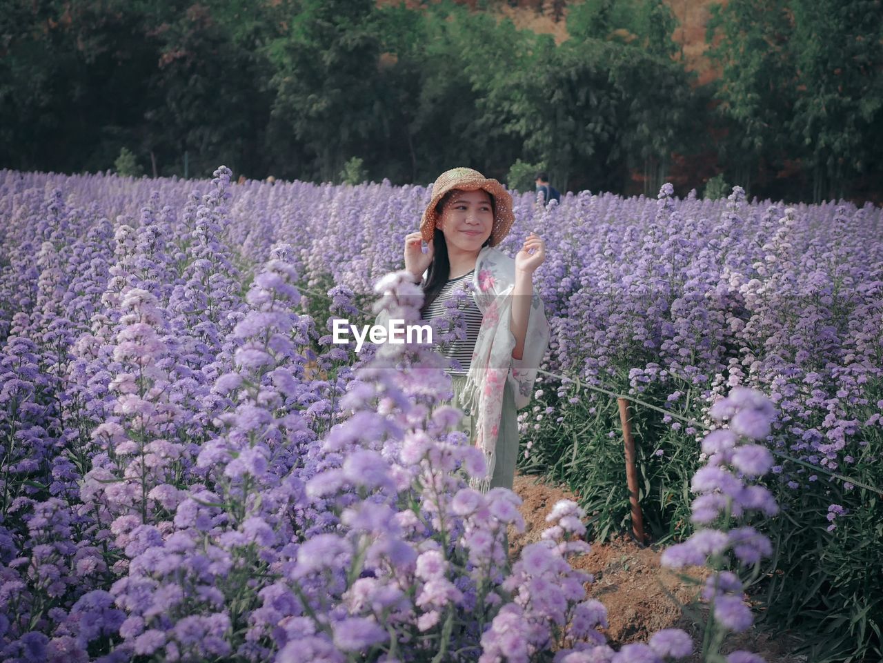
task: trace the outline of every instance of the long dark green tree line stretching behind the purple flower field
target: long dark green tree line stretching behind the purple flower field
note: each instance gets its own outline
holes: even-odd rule
[[[730,0],[704,86],[662,0],[538,5],[560,43],[496,4],[11,0],[0,167],[106,170],[125,148],[147,175],[329,181],[361,159],[400,184],[520,160],[562,189],[881,197],[879,0]]]

